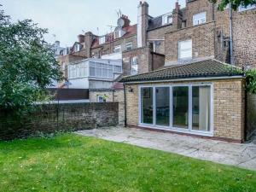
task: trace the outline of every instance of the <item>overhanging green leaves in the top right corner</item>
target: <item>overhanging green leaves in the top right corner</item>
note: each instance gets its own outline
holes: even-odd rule
[[[236,10],[238,7],[256,4],[256,0],[210,0],[212,3],[218,3],[218,9],[224,10],[230,3],[232,3],[232,9]]]

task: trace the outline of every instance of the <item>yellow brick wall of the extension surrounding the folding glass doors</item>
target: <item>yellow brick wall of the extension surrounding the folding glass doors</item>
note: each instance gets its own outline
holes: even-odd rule
[[[241,141],[244,137],[244,88],[243,80],[227,79],[214,81],[170,82],[155,84],[213,84],[213,137]],[[126,85],[127,124],[138,125],[138,85]],[[142,85],[142,84],[140,84]],[[153,84],[143,84],[153,85]],[[128,86],[133,92],[128,91]],[[236,103],[236,105],[234,105]]]

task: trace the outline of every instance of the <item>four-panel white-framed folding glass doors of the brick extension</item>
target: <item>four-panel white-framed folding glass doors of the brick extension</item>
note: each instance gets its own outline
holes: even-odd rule
[[[212,85],[177,84],[140,88],[141,125],[212,136]]]

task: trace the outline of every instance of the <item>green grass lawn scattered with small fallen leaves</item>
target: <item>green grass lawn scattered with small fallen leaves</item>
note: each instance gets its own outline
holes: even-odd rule
[[[64,134],[0,143],[0,191],[256,191],[256,172]]]

